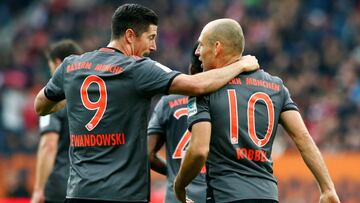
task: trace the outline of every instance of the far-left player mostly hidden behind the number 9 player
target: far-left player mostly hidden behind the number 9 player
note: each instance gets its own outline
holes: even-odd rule
[[[46,58],[51,75],[64,58],[82,54],[72,40],[61,40],[50,46]],[[37,152],[34,192],[31,203],[63,203],[69,177],[69,125],[66,109],[41,116],[39,121],[40,142]]]

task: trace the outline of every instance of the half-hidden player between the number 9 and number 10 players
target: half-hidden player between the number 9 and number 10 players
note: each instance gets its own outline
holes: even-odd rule
[[[202,72],[201,61],[195,55],[195,44],[189,65],[191,75]],[[179,202],[174,194],[173,182],[180,169],[181,159],[185,155],[191,134],[187,130],[188,96],[163,96],[151,116],[148,126],[148,147],[151,169],[167,176],[166,203]],[[158,151],[165,144],[166,162],[158,156]],[[204,168],[205,169],[205,168]],[[206,201],[205,170],[187,187],[187,196],[195,202]]]

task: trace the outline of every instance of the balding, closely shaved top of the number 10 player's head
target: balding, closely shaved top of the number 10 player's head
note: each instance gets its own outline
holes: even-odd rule
[[[208,23],[203,31],[209,43],[221,42],[228,53],[242,54],[244,51],[244,34],[238,22],[230,18],[222,18]]]

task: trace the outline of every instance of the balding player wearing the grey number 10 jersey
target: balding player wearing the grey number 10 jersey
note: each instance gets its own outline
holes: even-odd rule
[[[244,36],[231,19],[202,30],[196,54],[204,70],[241,56]],[[263,70],[243,73],[220,90],[189,98],[190,146],[174,183],[185,202],[185,187],[206,161],[207,202],[278,202],[271,151],[278,123],[295,142],[320,186],[320,202],[339,202],[323,158],[278,77]],[[291,167],[291,166],[290,166]]]

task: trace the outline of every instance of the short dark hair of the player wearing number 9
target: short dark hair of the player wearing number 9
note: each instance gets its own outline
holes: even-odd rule
[[[158,16],[153,10],[139,4],[124,4],[119,6],[112,16],[111,39],[122,37],[129,28],[140,36],[150,25],[157,24]]]

